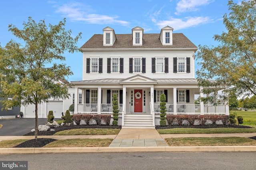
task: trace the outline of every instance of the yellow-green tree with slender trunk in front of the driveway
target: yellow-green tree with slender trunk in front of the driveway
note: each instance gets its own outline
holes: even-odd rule
[[[7,109],[12,106],[35,105],[35,139],[38,132],[38,104],[49,98],[68,98],[65,84],[72,71],[66,64],[54,61],[65,61],[64,52],[80,51],[76,46],[81,33],[71,36],[71,30],[65,30],[66,19],[58,25],[46,26],[44,20],[36,23],[32,18],[24,22],[24,28],[18,29],[9,25],[9,31],[22,43],[11,40],[5,47],[0,47],[0,73],[2,104]],[[0,75],[2,75],[0,74]],[[8,97],[12,96],[12,100]]]

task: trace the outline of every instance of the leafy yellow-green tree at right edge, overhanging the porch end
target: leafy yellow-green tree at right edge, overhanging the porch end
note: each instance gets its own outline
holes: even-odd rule
[[[227,31],[214,35],[220,44],[199,45],[198,85],[225,88],[224,94],[236,91],[237,96],[256,95],[256,0],[243,0],[241,4],[230,0],[228,6],[230,13],[223,17]]]

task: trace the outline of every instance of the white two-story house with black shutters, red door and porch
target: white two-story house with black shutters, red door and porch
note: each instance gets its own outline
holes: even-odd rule
[[[166,26],[160,33],[116,34],[106,27],[82,47],[83,77],[74,81],[74,114],[112,114],[112,96],[119,102],[118,124],[124,127],[159,125],[160,95],[167,114],[228,114],[227,104],[195,104],[203,96],[194,72],[194,45]],[[81,92],[81,93],[80,93]]]

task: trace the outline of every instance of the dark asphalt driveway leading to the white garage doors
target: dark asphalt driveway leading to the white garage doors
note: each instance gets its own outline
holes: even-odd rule
[[[47,123],[47,118],[39,118],[38,125]],[[35,118],[0,119],[3,127],[0,129],[0,136],[22,136],[35,129]]]

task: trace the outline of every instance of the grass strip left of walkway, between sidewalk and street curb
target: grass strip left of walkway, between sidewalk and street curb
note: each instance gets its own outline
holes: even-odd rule
[[[44,147],[108,147],[113,139],[65,139],[51,142]]]

